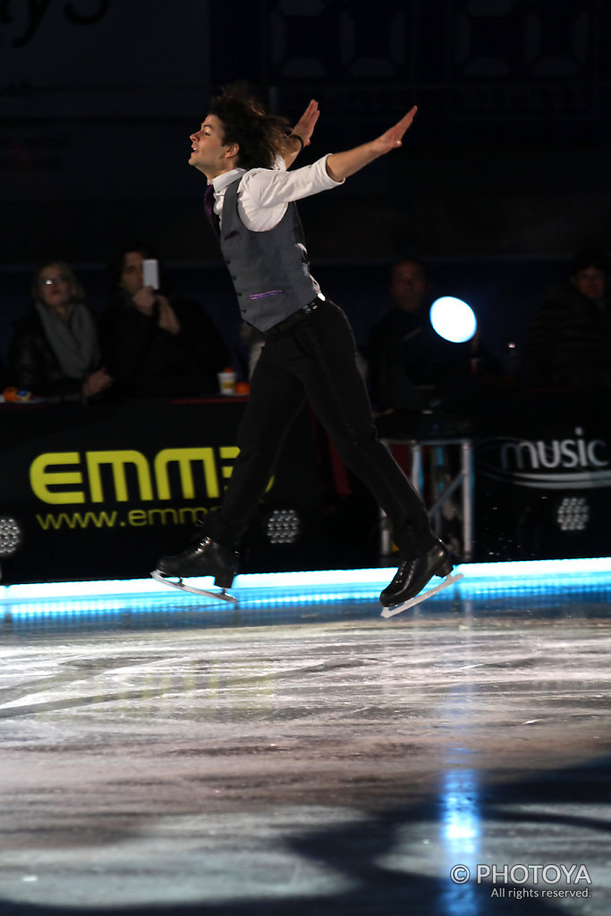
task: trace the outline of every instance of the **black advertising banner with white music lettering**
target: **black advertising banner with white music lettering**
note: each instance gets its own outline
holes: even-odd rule
[[[481,560],[608,556],[611,425],[592,392],[518,392],[475,442]]]

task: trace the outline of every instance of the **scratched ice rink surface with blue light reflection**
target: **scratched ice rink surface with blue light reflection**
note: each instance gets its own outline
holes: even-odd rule
[[[608,916],[611,577],[469,582],[5,594],[2,916]]]

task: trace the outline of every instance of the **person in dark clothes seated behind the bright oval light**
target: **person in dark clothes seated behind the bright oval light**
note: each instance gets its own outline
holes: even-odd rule
[[[453,410],[470,381],[471,346],[451,344],[431,326],[431,282],[415,258],[391,269],[395,308],[374,326],[367,352],[372,398],[381,410]]]

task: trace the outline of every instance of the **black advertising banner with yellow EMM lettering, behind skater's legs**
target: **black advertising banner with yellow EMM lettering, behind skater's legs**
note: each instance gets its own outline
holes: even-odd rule
[[[220,505],[244,408],[240,398],[2,406],[0,517],[22,532],[16,552],[0,546],[3,583],[139,578],[159,554],[182,550],[193,522]],[[259,516],[245,571],[300,568],[300,551],[324,546],[306,411]]]

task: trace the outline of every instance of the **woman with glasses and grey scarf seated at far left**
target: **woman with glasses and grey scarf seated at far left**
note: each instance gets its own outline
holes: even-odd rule
[[[113,384],[100,363],[93,312],[64,261],[43,261],[32,279],[32,308],[17,319],[8,349],[8,384],[50,401],[83,401]]]

